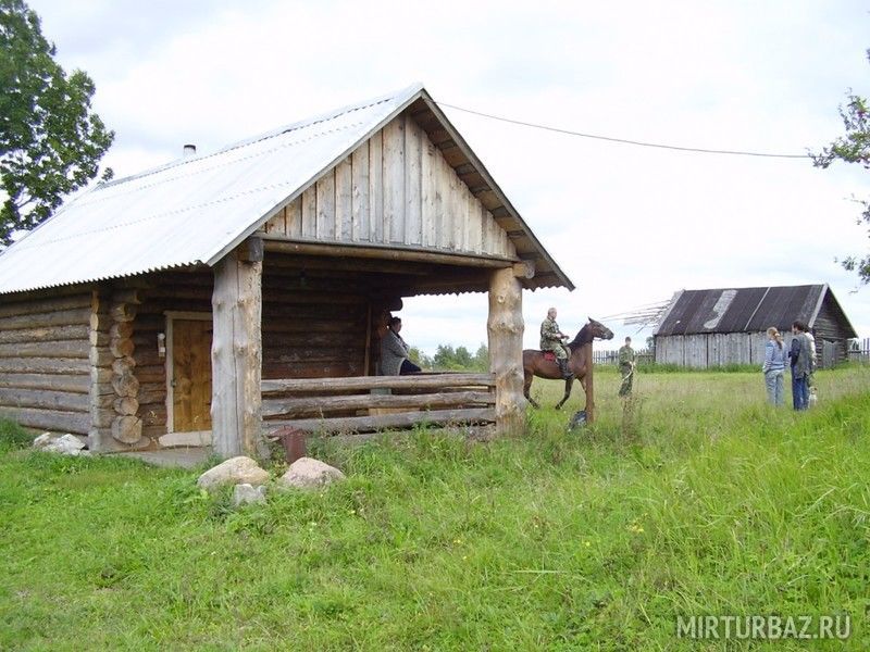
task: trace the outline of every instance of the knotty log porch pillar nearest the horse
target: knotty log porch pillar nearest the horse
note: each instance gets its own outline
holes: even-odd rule
[[[489,276],[489,371],[496,376],[496,431],[525,429],[523,397],[523,294],[512,267]]]

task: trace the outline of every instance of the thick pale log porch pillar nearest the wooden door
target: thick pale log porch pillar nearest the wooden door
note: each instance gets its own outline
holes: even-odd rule
[[[211,424],[212,446],[221,457],[263,452],[262,274],[262,248],[258,255],[249,243],[214,266]]]

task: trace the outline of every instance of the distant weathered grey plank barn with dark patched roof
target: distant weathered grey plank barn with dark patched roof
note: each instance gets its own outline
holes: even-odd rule
[[[828,285],[681,290],[656,330],[656,362],[760,365],[767,329],[775,326],[790,343],[795,321],[812,329],[820,366],[845,360],[847,340],[857,337]]]

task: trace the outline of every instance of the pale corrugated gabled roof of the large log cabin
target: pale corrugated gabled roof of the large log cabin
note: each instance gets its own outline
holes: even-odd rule
[[[0,254],[0,294],[214,265],[364,142],[414,105],[458,150],[458,171],[508,233],[518,258],[534,261],[525,287],[573,284],[504,196],[422,85],[331,111],[215,153],[195,155],[99,184]],[[463,175],[460,174],[460,178]],[[483,201],[483,199],[482,199]]]

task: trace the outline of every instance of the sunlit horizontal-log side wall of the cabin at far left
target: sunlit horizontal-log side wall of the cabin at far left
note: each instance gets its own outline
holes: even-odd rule
[[[0,414],[23,426],[90,429],[89,289],[27,292],[0,303]]]

